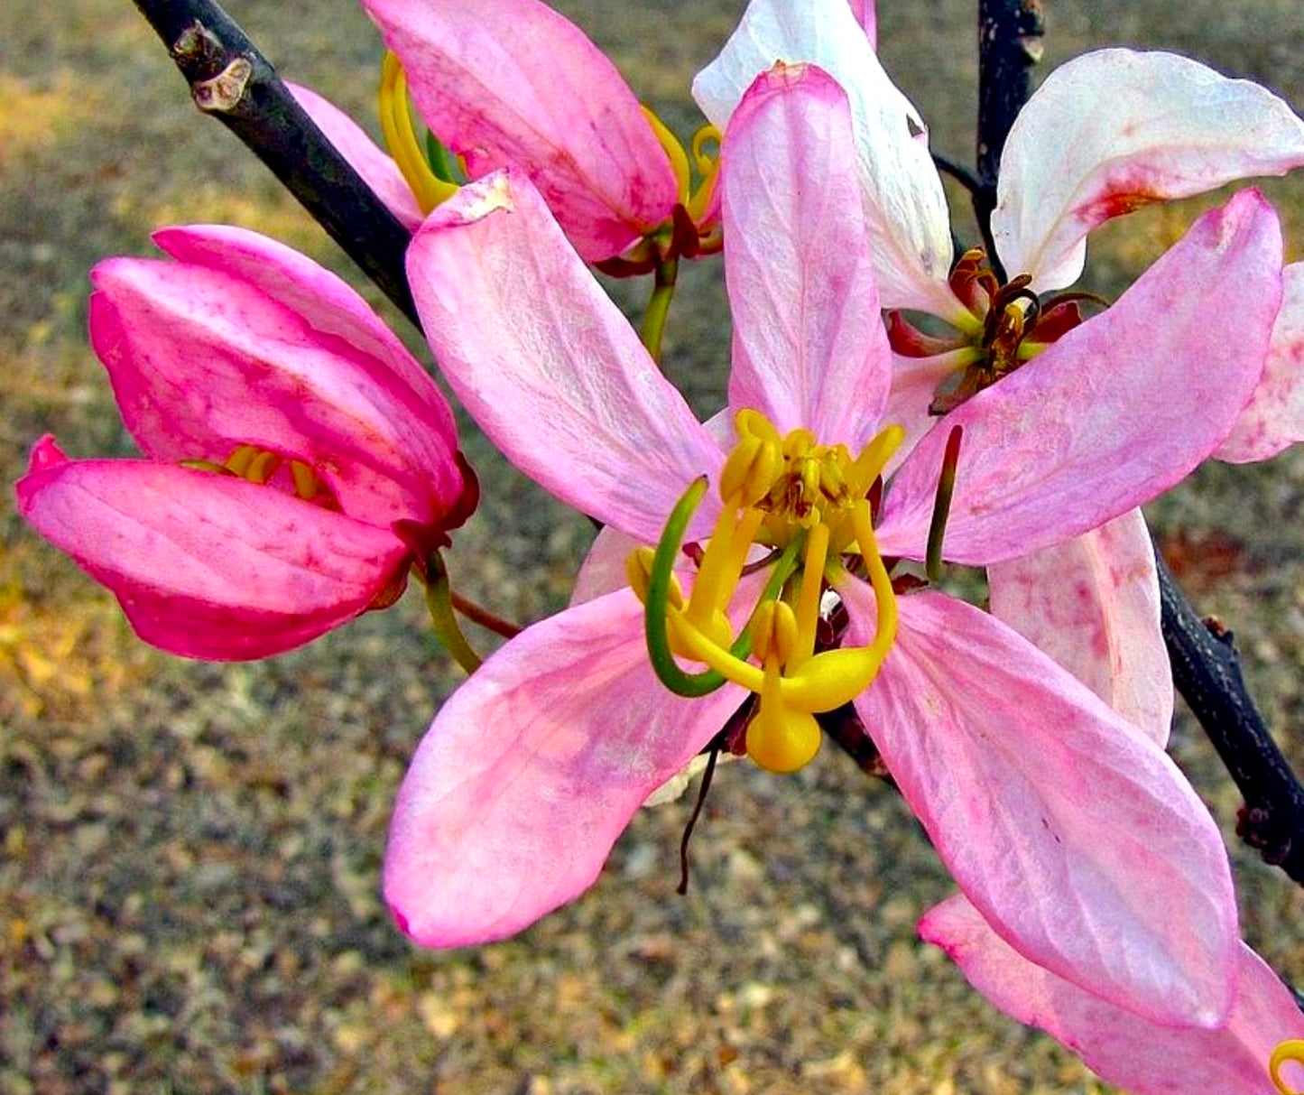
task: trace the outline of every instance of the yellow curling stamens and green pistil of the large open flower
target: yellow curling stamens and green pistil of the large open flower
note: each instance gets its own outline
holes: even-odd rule
[[[896,595],[874,540],[870,492],[901,442],[888,427],[853,459],[806,429],[780,437],[756,411],[739,411],[738,442],[720,476],[724,506],[685,598],[673,574],[683,531],[705,493],[699,479],[681,499],[656,551],[630,556],[630,585],[647,607],[648,653],[661,680],[702,696],[726,680],[760,700],[747,753],[769,771],[795,771],[819,749],[816,714],[852,701],[878,675],[896,638]],[[764,549],[752,559],[755,548]],[[820,600],[844,556],[857,556],[878,603],[868,646],[816,651]],[[745,573],[769,581],[742,632],[728,609]],[[674,655],[707,670],[683,672]],[[750,658],[755,659],[755,664]]]

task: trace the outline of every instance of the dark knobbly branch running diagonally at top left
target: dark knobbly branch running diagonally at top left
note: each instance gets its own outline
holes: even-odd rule
[[[211,114],[403,313],[417,322],[403,256],[409,235],[299,106],[245,33],[213,0],[134,0]]]

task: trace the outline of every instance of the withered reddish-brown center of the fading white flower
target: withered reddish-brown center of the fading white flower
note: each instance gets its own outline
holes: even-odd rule
[[[892,348],[908,358],[951,354],[956,372],[936,392],[928,411],[944,415],[1021,368],[1050,343],[1082,322],[1082,300],[1103,300],[1089,292],[1063,292],[1042,301],[1031,290],[1031,275],[1018,274],[1004,285],[982,248],[966,251],[951,271],[951,290],[968,315],[952,338],[932,338],[900,313],[888,326]]]

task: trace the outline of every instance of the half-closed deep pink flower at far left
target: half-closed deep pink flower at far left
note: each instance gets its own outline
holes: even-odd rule
[[[434,381],[348,286],[254,232],[91,274],[90,337],[143,459],[39,441],[18,512],[190,658],[263,658],[402,593],[473,506]],[[464,493],[466,491],[466,493]]]

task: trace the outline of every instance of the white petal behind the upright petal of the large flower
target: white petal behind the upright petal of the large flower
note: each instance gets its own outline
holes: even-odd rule
[[[724,51],[692,81],[694,98],[724,131],[743,93],[776,61],[816,64],[846,91],[883,305],[953,315],[951,218],[927,129],[846,0],[752,0]]]

